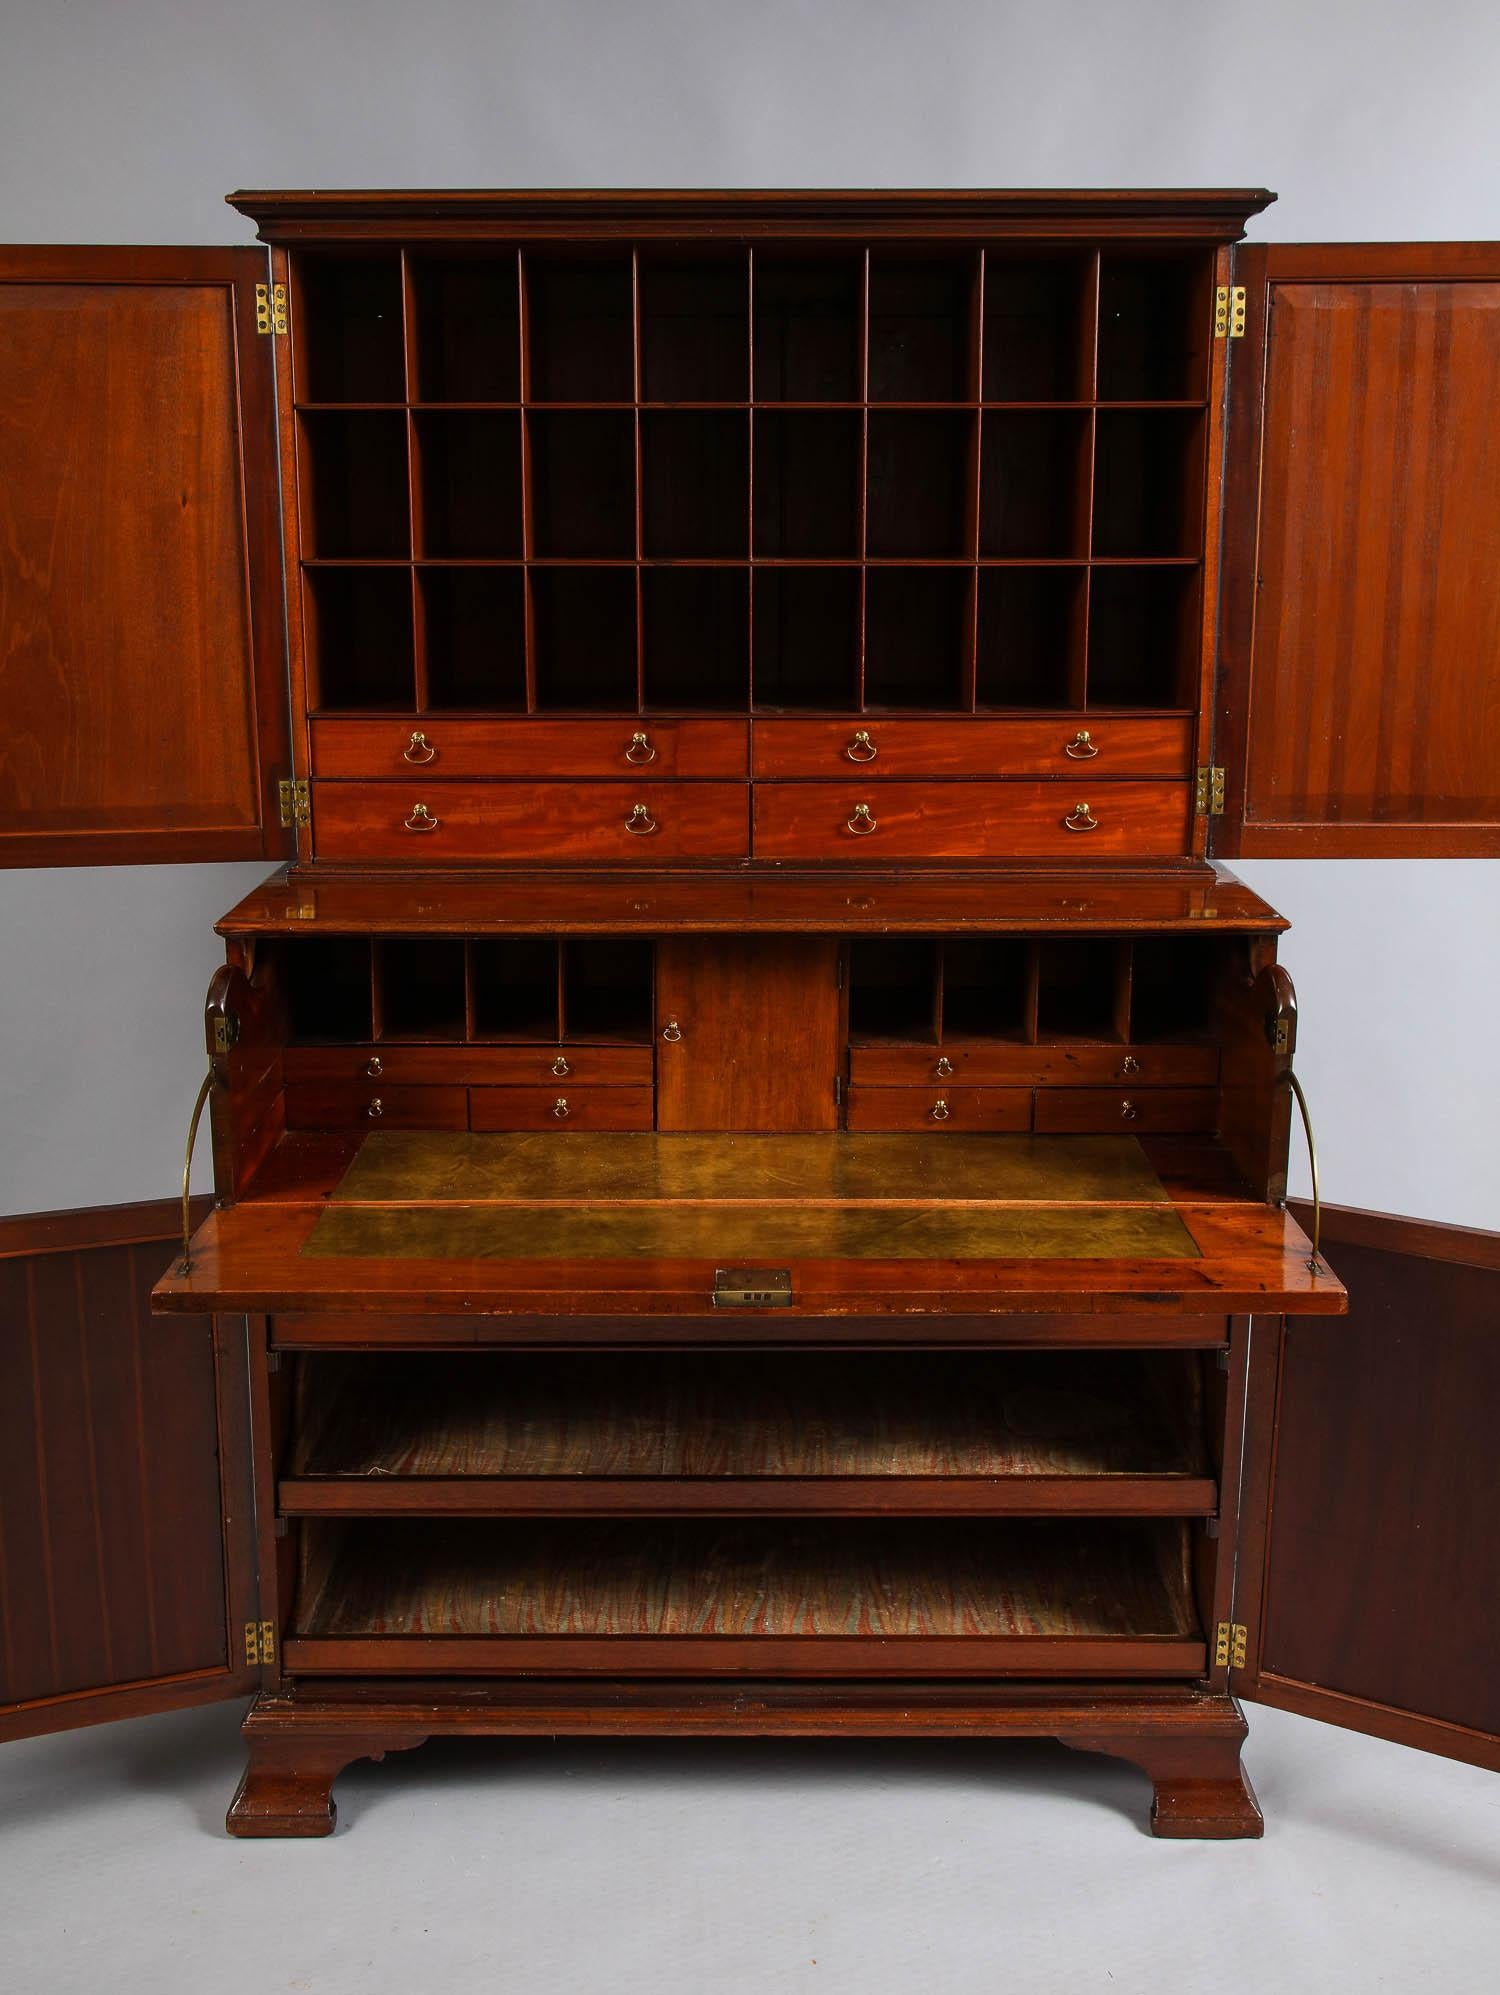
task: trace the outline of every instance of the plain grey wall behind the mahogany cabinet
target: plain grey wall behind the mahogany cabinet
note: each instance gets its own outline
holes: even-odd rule
[[[237,241],[237,186],[590,184],[1271,186],[1277,239],[1500,235],[1492,0],[10,0],[2,48],[14,241]],[[1326,1195],[1500,1225],[1500,864],[1243,872],[1297,922]],[[174,1189],[255,876],[0,876],[0,1211]]]

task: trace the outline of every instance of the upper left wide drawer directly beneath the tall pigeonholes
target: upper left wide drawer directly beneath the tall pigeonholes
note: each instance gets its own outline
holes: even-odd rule
[[[421,776],[722,776],[744,778],[744,720],[313,720],[313,774]]]

